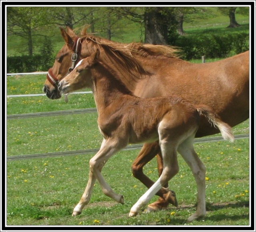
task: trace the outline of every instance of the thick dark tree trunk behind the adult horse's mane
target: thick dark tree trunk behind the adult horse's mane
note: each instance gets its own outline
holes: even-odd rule
[[[147,10],[144,13],[145,22],[145,43],[146,44],[163,44],[168,45],[167,28],[165,25],[160,25],[157,17],[157,12]]]

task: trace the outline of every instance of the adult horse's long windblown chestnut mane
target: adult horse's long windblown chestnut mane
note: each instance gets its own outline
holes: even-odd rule
[[[152,45],[132,42],[130,44],[122,44],[113,42],[104,38],[95,36],[95,34],[88,33],[87,30],[90,25],[84,26],[79,37],[85,42],[87,46],[92,42],[94,49],[104,50],[101,52],[102,61],[106,65],[110,66],[112,73],[116,73],[120,81],[130,90],[134,90],[134,82],[140,81],[140,79],[150,75],[144,69],[137,57],[144,58],[167,58],[175,57],[179,50],[176,47],[164,46],[164,45]],[[77,37],[76,34],[69,30],[69,35],[72,38]],[[132,81],[131,81],[132,80]]]

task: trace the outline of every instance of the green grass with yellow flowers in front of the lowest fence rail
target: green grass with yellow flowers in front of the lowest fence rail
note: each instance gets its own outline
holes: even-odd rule
[[[189,225],[249,224],[249,156],[248,139],[230,144],[204,143],[195,145],[204,162],[206,176],[207,214]],[[209,152],[210,151],[210,152]],[[192,173],[179,156],[180,171],[169,182],[177,194],[178,208],[129,218],[132,205],[145,191],[132,177],[130,165],[138,150],[122,151],[112,157],[102,170],[110,186],[122,193],[121,205],[94,187],[91,203],[81,215],[72,217],[88,179],[88,162],[92,155],[51,157],[10,161],[7,164],[7,224],[8,225],[184,225],[196,204],[196,184]],[[236,170],[234,172],[234,170]],[[156,160],[144,168],[156,180]],[[116,178],[118,176],[118,178]],[[40,184],[39,184],[40,183]],[[157,198],[154,197],[150,202]],[[143,210],[143,209],[142,209]],[[172,213],[172,214],[171,214]],[[94,221],[96,220],[96,221]]]

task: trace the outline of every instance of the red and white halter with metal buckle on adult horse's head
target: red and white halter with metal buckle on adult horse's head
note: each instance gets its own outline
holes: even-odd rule
[[[77,37],[76,39],[75,39],[75,41],[74,41],[74,46],[73,46],[73,48],[72,48],[72,51],[74,52],[73,54],[72,54],[72,56],[71,56],[71,60],[72,60],[72,65],[71,65],[71,67],[68,69],[68,73],[70,73],[73,69],[74,69],[74,67],[75,67],[75,64],[76,64],[76,60],[77,60],[77,58],[78,58],[78,52],[79,52],[79,50],[81,49],[81,38],[80,37]],[[79,41],[80,41],[80,43],[79,43]],[[67,73],[67,74],[68,74]],[[67,75],[66,74],[66,75]],[[66,76],[65,75],[65,76]],[[48,70],[48,73],[47,73],[47,75],[46,75],[46,78],[48,79],[48,81],[50,81],[50,83],[53,85],[53,86],[56,86],[56,87],[58,87],[58,83],[60,82],[60,80],[58,80],[56,77],[55,77],[55,75],[53,74],[53,72],[52,72],[52,68],[50,68],[49,70]],[[63,78],[63,77],[62,77]]]

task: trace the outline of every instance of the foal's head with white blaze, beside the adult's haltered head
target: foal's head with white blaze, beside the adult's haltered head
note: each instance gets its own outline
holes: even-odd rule
[[[78,89],[91,87],[92,74],[90,68],[98,62],[99,56],[100,51],[97,50],[92,56],[80,60],[74,70],[59,82],[59,91],[67,94]]]

